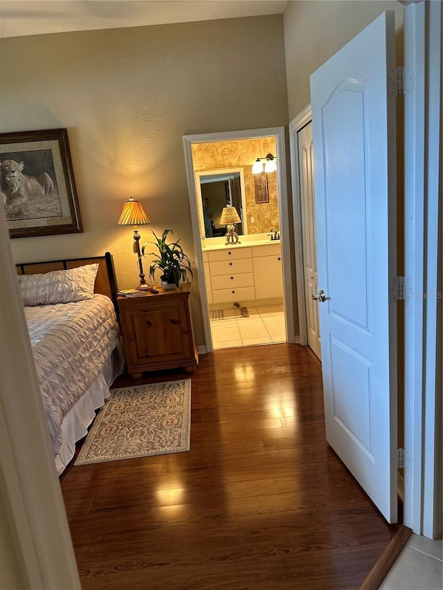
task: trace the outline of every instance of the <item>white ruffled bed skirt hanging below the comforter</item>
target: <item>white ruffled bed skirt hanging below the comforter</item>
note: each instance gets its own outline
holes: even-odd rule
[[[102,407],[109,398],[112,383],[123,372],[125,356],[121,344],[111,353],[105,362],[102,372],[91,387],[82,395],[77,403],[66,414],[62,421],[62,444],[55,455],[57,474],[62,474],[75,454],[75,443],[88,433],[88,427],[96,417],[96,409]]]

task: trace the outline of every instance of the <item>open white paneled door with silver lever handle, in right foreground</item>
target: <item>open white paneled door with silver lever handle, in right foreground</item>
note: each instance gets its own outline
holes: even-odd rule
[[[397,521],[393,13],[311,76],[328,443]]]

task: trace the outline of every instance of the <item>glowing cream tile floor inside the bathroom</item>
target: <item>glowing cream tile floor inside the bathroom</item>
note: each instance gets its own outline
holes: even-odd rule
[[[249,317],[211,320],[215,350],[286,342],[283,305],[248,306]]]

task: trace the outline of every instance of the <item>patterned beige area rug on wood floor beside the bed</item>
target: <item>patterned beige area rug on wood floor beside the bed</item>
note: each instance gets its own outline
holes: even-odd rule
[[[189,450],[190,379],[111,391],[75,465]]]

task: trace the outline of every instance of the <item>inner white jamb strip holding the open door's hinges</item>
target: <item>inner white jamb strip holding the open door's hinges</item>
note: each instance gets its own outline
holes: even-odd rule
[[[405,441],[410,457],[404,474],[404,524],[422,534],[422,352],[424,260],[424,3],[404,10],[405,66],[413,77],[413,91],[405,95]]]

